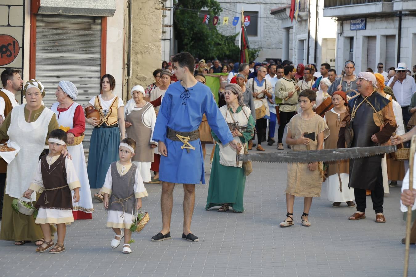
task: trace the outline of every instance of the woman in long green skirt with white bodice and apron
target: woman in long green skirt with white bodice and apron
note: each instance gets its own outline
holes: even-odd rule
[[[254,119],[251,116],[250,108],[243,104],[243,92],[237,84],[225,86],[225,102],[220,108],[227,123],[236,123],[237,126],[247,126],[243,129],[231,126],[231,133],[234,138],[239,138],[244,145],[240,154],[244,153],[247,142],[253,137]],[[233,207],[233,212],[242,213],[243,196],[245,187],[245,172],[242,162],[236,162],[236,151],[230,145],[223,145],[217,135],[212,132],[215,145],[215,153],[212,162],[211,175],[209,180],[208,197],[206,210],[215,206],[221,206],[218,211],[226,212]]]

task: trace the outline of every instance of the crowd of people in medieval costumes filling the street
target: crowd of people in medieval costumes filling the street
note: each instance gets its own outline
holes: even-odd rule
[[[163,61],[146,88],[133,86],[126,103],[114,93],[114,77],[103,75],[101,93],[85,107],[96,112],[93,116],[75,102],[78,91],[70,81],[59,82],[57,103],[49,109],[42,102],[41,81],[23,86],[21,72],[6,69],[1,74],[0,139],[17,143],[20,151],[9,164],[0,162],[0,239],[15,245],[34,242],[36,252],[63,252],[65,224],[92,218],[94,188],[100,189],[94,198],[108,210],[106,226],[114,230],[111,247],[124,238],[122,252],[131,253],[130,228],[141,198],[148,195],[144,184],[161,183],[162,228],[151,240],[171,238],[173,188],[183,184],[182,238],[198,241],[191,221],[195,184],[205,184],[206,144],[214,144],[206,209],[242,213],[246,176],[253,167],[238,162],[236,155],[256,145],[257,151],[265,151],[262,142],[275,144],[276,128],[277,150],[285,150],[285,130],[285,144],[292,151],[408,141],[416,133],[416,128],[406,133],[416,125],[416,77],[408,75],[405,63],[388,72],[383,68],[379,63],[376,73],[368,69],[356,74],[354,61],[348,60],[337,75],[327,63],[318,73],[315,64],[205,61],[183,52]],[[208,77],[218,78],[218,91],[206,86]],[[15,100],[18,91],[25,104]],[[94,127],[88,166],[82,146],[86,123]],[[372,170],[363,172],[364,167]],[[371,194],[375,221],[384,223],[384,194],[397,181],[409,182],[404,173],[404,162],[390,154],[288,164],[287,213],[280,227],[294,225],[295,196],[304,197],[302,226],[312,225],[310,207],[322,183],[333,207],[346,203],[356,208],[349,220],[366,217],[366,195]],[[415,195],[405,190],[403,203],[410,205]],[[36,219],[13,212],[16,200],[39,208]],[[414,238],[412,243],[416,234]]]

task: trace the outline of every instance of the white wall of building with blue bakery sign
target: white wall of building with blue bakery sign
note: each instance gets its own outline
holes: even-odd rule
[[[348,59],[349,37],[354,37],[354,62],[356,72],[365,71],[367,68],[367,37],[376,35],[376,63],[386,63],[386,50],[394,51],[397,56],[398,45],[398,17],[389,17],[382,19],[367,18],[366,30],[351,31],[350,21],[338,22],[337,36],[337,61],[336,70],[341,72],[344,62]],[[395,49],[386,49],[386,36],[396,36]],[[385,65],[386,70],[389,66],[397,66],[398,62],[405,62],[407,67],[411,68],[416,64],[416,26],[414,25],[414,17],[402,17],[401,27],[401,51],[400,61],[395,58],[394,65]],[[376,69],[376,64],[372,67]]]

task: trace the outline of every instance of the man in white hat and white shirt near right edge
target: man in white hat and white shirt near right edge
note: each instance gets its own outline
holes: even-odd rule
[[[409,122],[409,119],[411,118],[411,113],[409,113],[409,105],[413,93],[416,92],[416,83],[412,76],[406,74],[408,70],[406,63],[399,63],[397,68],[394,70],[396,70],[397,73],[393,78],[389,80],[387,86],[391,87],[397,102],[399,102],[401,106],[404,125],[406,126]]]

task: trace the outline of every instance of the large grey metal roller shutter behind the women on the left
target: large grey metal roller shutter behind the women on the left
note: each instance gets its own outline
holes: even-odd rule
[[[100,93],[101,18],[67,15],[36,16],[36,78],[45,86],[45,106],[56,101],[59,81],[77,86],[76,102],[83,108]],[[92,127],[86,126],[84,150]]]

